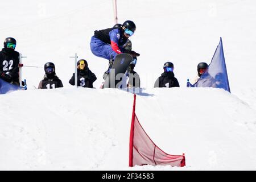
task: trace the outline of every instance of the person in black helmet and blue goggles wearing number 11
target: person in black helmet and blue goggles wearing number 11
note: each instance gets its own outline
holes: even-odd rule
[[[55,89],[63,87],[62,81],[55,73],[55,65],[51,62],[44,64],[44,75],[43,80],[39,82],[38,89]]]

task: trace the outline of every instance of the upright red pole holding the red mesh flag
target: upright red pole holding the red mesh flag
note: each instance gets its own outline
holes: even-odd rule
[[[136,94],[134,94],[133,114],[131,116],[130,146],[129,146],[129,167],[133,167],[133,137],[134,137],[135,105],[136,105]]]

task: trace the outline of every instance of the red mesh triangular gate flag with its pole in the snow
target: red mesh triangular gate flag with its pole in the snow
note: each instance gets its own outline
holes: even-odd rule
[[[170,155],[162,151],[152,140],[148,137],[147,133],[139,123],[135,114],[135,100],[133,105],[133,116],[131,118],[131,131],[130,131],[130,156],[129,167],[135,165],[142,166],[149,164],[156,165],[171,165],[177,167],[185,166],[185,155]]]

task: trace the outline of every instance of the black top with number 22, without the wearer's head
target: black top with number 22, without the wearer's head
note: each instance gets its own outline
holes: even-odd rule
[[[19,82],[19,52],[14,49],[3,48],[0,51],[0,77],[1,73],[8,73],[10,80],[3,80],[7,82]]]

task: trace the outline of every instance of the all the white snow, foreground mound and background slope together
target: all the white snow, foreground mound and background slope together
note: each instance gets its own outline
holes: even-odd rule
[[[37,90],[43,68],[23,67],[28,90],[0,95],[1,170],[255,170],[256,2],[118,1],[118,22],[134,20],[143,94],[136,113],[165,152],[186,167],[128,167],[133,94],[98,89],[108,61],[90,52],[94,30],[114,25],[113,2],[3,1],[0,40],[12,36],[24,65],[56,65],[64,88]],[[3,7],[11,7],[3,8]],[[200,61],[210,63],[222,37],[231,94],[186,88]],[[68,84],[75,52],[96,74],[96,89]],[[172,61],[180,88],[153,89]]]

